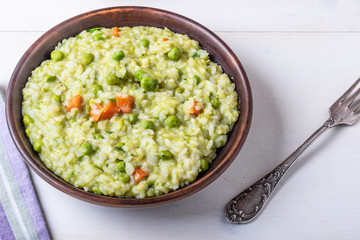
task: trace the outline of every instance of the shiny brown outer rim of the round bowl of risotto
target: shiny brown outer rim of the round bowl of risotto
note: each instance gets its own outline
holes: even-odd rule
[[[77,19],[91,17],[97,14],[101,14],[104,12],[112,12],[112,11],[126,11],[126,10],[139,10],[139,11],[151,11],[153,13],[157,14],[165,14],[167,16],[175,17],[177,19],[180,19],[182,21],[186,21],[187,23],[201,28],[204,30],[207,34],[209,34],[214,40],[216,40],[217,44],[222,45],[227,51],[228,54],[231,55],[232,60],[235,61],[235,64],[239,67],[241,80],[243,82],[242,88],[244,88],[244,96],[241,96],[241,101],[238,103],[240,108],[240,116],[235,125],[239,124],[240,129],[238,131],[238,135],[236,136],[234,145],[231,149],[231,151],[227,152],[222,161],[216,166],[214,169],[212,169],[211,172],[205,173],[206,176],[196,179],[191,184],[180,187],[179,189],[175,191],[171,191],[167,194],[154,196],[154,197],[146,197],[146,198],[120,198],[120,197],[111,197],[111,196],[105,196],[105,195],[97,195],[91,192],[86,192],[85,190],[81,188],[77,188],[64,180],[62,180],[60,177],[52,173],[44,164],[39,163],[36,161],[31,154],[27,151],[24,144],[22,143],[22,140],[20,138],[19,133],[16,131],[15,127],[15,121],[19,121],[19,119],[15,119],[14,116],[11,114],[11,109],[13,106],[13,103],[11,101],[11,94],[14,93],[16,90],[15,83],[17,79],[19,78],[19,73],[22,71],[23,65],[25,65],[29,59],[29,57],[32,55],[32,48],[36,47],[38,45],[41,45],[41,43],[46,42],[47,37],[51,36],[54,32],[56,32],[58,29],[61,29],[62,27],[66,26],[69,23],[73,23]],[[166,26],[165,26],[166,27]],[[240,98],[240,96],[239,96]],[[16,65],[13,74],[10,78],[10,82],[8,84],[7,89],[7,96],[6,96],[6,121],[7,125],[10,131],[10,135],[13,139],[13,142],[15,143],[15,146],[23,156],[25,162],[32,170],[34,170],[43,180],[48,182],[53,187],[57,188],[58,190],[71,195],[77,199],[90,202],[97,205],[103,205],[108,207],[121,207],[121,208],[140,208],[140,207],[152,207],[156,205],[162,205],[165,203],[174,202],[180,199],[183,199],[187,196],[190,196],[201,189],[208,186],[210,183],[212,183],[215,179],[217,179],[229,166],[230,164],[235,160],[236,156],[238,155],[240,149],[242,148],[246,137],[249,132],[249,128],[251,125],[252,120],[252,110],[253,110],[253,103],[252,103],[252,93],[250,84],[246,75],[246,72],[241,65],[240,61],[236,57],[235,53],[230,49],[230,47],[222,40],[220,39],[215,33],[210,31],[208,28],[204,27],[198,22],[195,22],[194,20],[187,18],[185,16],[182,16],[180,14],[170,12],[167,10],[162,10],[158,8],[151,8],[151,7],[142,7],[142,6],[119,6],[119,7],[109,7],[109,8],[101,8],[92,10],[89,12],[85,12],[79,15],[76,15],[72,18],[69,18],[50,30],[46,31],[40,38],[38,38],[24,53],[24,55],[19,60],[18,64]],[[20,119],[21,121],[21,119]],[[234,125],[234,127],[235,127]],[[231,131],[233,132],[233,130]],[[231,133],[230,132],[230,133]],[[229,133],[228,133],[229,134]],[[216,158],[215,158],[216,159]]]

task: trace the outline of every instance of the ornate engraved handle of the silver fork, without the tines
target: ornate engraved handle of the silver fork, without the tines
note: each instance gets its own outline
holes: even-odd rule
[[[329,118],[298,149],[252,186],[233,198],[226,206],[226,220],[230,223],[248,223],[264,208],[273,190],[300,154],[311,145],[325,130],[334,126]]]

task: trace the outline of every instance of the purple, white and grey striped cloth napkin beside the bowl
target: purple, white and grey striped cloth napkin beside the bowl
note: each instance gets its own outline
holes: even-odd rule
[[[5,119],[0,91],[0,240],[50,239],[29,172]]]

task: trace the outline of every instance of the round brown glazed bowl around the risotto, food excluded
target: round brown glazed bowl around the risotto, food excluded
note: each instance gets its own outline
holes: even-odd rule
[[[136,198],[117,198],[85,192],[76,188],[52,173],[32,149],[25,135],[22,122],[22,89],[31,71],[48,59],[56,44],[84,29],[114,26],[153,26],[167,27],[173,32],[188,35],[197,40],[207,50],[211,59],[223,67],[236,85],[239,95],[240,118],[229,133],[228,143],[218,149],[218,156],[210,168],[200,174],[196,181],[174,192],[161,196]],[[26,163],[45,181],[57,189],[84,201],[110,207],[147,207],[161,205],[185,198],[209,185],[219,177],[233,162],[245,142],[252,116],[252,97],[245,71],[236,55],[213,32],[199,23],[181,15],[147,7],[114,7],[87,12],[60,23],[42,35],[24,54],[16,66],[8,86],[6,99],[6,119],[11,136]]]

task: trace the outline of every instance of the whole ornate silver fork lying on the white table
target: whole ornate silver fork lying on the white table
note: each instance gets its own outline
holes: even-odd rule
[[[226,220],[248,223],[264,208],[273,190],[300,154],[325,130],[338,125],[352,125],[360,117],[360,78],[330,107],[329,119],[316,130],[295,152],[269,174],[233,198],[226,206]]]

